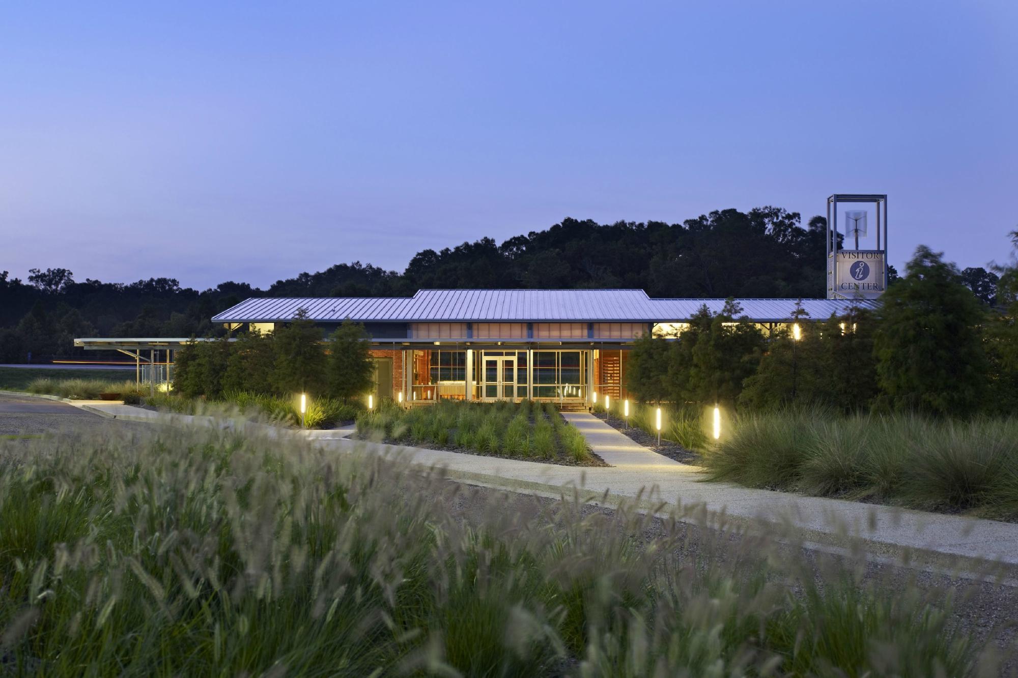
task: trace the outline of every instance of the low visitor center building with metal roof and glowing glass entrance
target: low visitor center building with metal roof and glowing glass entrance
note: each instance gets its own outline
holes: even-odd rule
[[[737,299],[765,330],[791,323],[795,299]],[[812,320],[875,301],[804,299]],[[680,338],[703,305],[724,299],[651,298],[638,289],[422,289],[412,297],[250,298],[215,316],[231,332],[273,331],[298,310],[327,337],[345,319],[363,324],[376,395],[410,403],[624,398],[627,354],[645,334]],[[82,344],[83,345],[83,344]],[[99,348],[100,346],[96,346]]]

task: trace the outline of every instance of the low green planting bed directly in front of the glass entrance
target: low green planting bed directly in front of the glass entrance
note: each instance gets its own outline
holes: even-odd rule
[[[553,403],[529,400],[384,407],[357,417],[357,435],[519,459],[573,464],[597,461],[583,434],[562,418]]]

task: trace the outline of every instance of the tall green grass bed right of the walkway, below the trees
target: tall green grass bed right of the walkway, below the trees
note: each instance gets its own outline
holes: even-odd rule
[[[702,463],[749,487],[1018,519],[1018,417],[741,414]]]

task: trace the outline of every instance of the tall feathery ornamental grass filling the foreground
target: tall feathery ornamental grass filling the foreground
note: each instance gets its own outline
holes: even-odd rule
[[[943,591],[892,594],[854,562],[816,567],[720,518],[651,529],[631,507],[581,508],[473,501],[438,471],[239,430],[0,440],[3,663],[48,676],[997,674]]]

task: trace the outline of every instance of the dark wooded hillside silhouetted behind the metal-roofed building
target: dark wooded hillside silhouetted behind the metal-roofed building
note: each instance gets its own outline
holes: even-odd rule
[[[0,272],[0,361],[79,354],[71,339],[216,336],[210,319],[248,296],[406,296],[420,288],[638,288],[687,298],[823,297],[827,222],[781,208],[720,210],[682,223],[561,223],[501,244],[490,237],[417,252],[402,273],[359,262],[278,280],[199,291],[174,278],[76,282],[67,269]],[[997,274],[961,272],[987,305]],[[897,273],[892,271],[892,280]],[[96,355],[93,353],[92,355]]]

